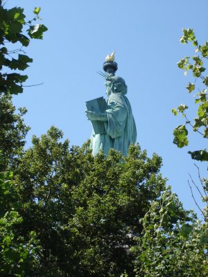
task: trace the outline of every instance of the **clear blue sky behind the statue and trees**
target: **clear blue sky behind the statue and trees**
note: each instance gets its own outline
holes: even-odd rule
[[[167,184],[185,208],[197,211],[187,180],[190,173],[198,182],[198,174],[187,151],[204,148],[205,139],[191,132],[187,148],[173,145],[173,129],[183,118],[173,116],[171,109],[186,103],[189,117],[195,116],[193,96],[185,89],[193,78],[177,68],[181,57],[195,53],[179,39],[182,28],[193,28],[200,44],[207,40],[208,1],[9,0],[6,6],[23,7],[28,18],[40,6],[42,22],[49,28],[42,41],[33,40],[26,49],[34,60],[26,70],[27,84],[44,84],[26,87],[15,97],[17,107],[28,108],[27,146],[33,134],[40,136],[51,125],[62,129],[71,145],[82,145],[90,137],[85,101],[105,96],[104,80],[96,71],[115,50],[117,75],[128,84],[137,142],[149,156],[156,152],[163,158]],[[207,175],[207,165],[197,164],[201,175]]]

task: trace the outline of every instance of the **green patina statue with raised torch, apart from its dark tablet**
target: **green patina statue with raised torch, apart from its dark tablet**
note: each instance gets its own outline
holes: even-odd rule
[[[93,132],[91,137],[90,148],[95,156],[99,150],[107,155],[111,148],[121,151],[123,156],[127,156],[130,144],[135,144],[137,139],[137,129],[135,119],[132,115],[132,109],[128,98],[127,85],[125,80],[115,76],[117,64],[114,62],[114,52],[108,55],[103,64],[106,73],[101,73],[105,77],[105,87],[107,93],[107,105],[105,108],[89,108],[87,105],[87,118],[91,120]],[[101,100],[101,98],[95,99]],[[92,100],[92,101],[95,101]],[[89,110],[90,109],[90,110]],[[99,132],[96,124],[103,124],[103,129]]]

